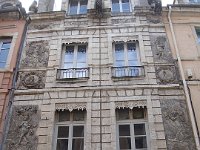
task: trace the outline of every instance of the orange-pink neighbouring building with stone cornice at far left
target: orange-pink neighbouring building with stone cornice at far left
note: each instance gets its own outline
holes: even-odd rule
[[[0,145],[13,92],[17,55],[23,39],[26,13],[18,1],[0,0]],[[0,146],[1,147],[1,146]]]

